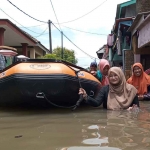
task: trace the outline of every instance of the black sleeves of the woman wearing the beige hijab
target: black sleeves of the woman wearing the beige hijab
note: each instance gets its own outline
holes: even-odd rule
[[[97,94],[96,98],[93,99],[90,96],[87,97],[86,102],[94,107],[98,107],[103,103],[103,108],[107,109],[107,98],[108,98],[108,93],[109,93],[109,85],[103,86],[99,93]],[[136,95],[135,98],[133,99],[132,104],[130,107],[136,104],[139,107],[139,100],[138,96]]]

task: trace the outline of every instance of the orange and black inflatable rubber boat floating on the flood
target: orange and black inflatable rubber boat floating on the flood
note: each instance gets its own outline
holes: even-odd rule
[[[25,59],[0,71],[0,103],[71,106],[79,99],[80,87],[95,97],[101,83],[84,68],[61,60]]]

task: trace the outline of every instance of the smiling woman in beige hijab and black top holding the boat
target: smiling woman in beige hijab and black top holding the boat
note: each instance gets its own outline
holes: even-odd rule
[[[110,110],[139,107],[137,89],[126,82],[119,67],[109,69],[108,80],[109,85],[102,87],[95,99],[88,96],[82,88],[79,89],[79,94],[83,94],[86,102],[94,107],[98,107],[102,103],[104,108]]]

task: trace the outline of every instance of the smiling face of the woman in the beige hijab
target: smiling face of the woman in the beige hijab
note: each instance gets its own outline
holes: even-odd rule
[[[109,83],[113,85],[117,85],[120,82],[119,76],[114,72],[110,72],[108,79]]]

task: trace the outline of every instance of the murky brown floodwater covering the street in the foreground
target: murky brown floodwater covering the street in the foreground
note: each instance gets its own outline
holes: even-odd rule
[[[0,107],[1,150],[149,150],[150,102],[141,110]]]

